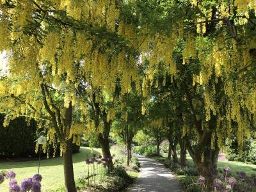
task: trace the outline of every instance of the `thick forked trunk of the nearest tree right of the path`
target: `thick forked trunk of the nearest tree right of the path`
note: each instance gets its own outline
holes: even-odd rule
[[[195,153],[195,166],[198,173],[205,178],[205,191],[214,191],[213,181],[216,179],[217,175],[217,163],[219,150],[205,150],[204,151],[204,161],[201,159],[202,152]]]

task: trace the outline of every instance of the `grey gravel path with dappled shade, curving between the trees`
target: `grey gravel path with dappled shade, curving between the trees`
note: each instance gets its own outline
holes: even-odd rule
[[[163,164],[152,159],[138,156],[141,163],[141,172],[135,184],[128,189],[129,192],[181,192],[179,181],[175,179]]]

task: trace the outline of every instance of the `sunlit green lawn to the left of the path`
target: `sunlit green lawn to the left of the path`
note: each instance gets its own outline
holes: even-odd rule
[[[100,154],[100,148],[95,148],[93,151],[90,148],[81,147],[79,154],[74,154],[74,174],[75,177],[86,172],[86,166],[84,159],[92,157],[92,154]],[[32,177],[38,172],[38,161],[26,161],[26,162],[8,162],[0,163],[0,170],[13,170],[17,174],[17,181]],[[40,174],[43,177],[42,191],[63,191],[60,188],[64,186],[64,174],[63,174],[63,159],[54,158],[41,161]],[[59,189],[59,190],[58,190]],[[0,184],[0,191],[9,191],[8,180],[5,180],[3,184]]]

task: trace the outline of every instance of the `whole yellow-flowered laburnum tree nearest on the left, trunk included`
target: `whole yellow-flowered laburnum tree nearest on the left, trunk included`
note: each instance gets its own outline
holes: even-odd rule
[[[87,113],[81,90],[111,95],[118,77],[125,93],[138,78],[132,30],[119,15],[117,1],[0,1],[4,125],[26,116],[42,122],[49,142],[58,136],[67,191],[76,191],[71,149]]]

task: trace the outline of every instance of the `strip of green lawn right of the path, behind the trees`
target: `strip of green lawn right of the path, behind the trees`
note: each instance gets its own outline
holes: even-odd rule
[[[167,157],[167,154],[162,154],[164,157]],[[190,156],[187,156],[188,163],[193,164],[193,160]],[[218,168],[221,170],[225,168],[225,166],[229,166],[231,168],[231,172],[233,175],[236,175],[236,172],[245,172],[247,175],[252,175],[252,173],[256,173],[256,165],[255,164],[246,164],[238,161],[219,161]]]

